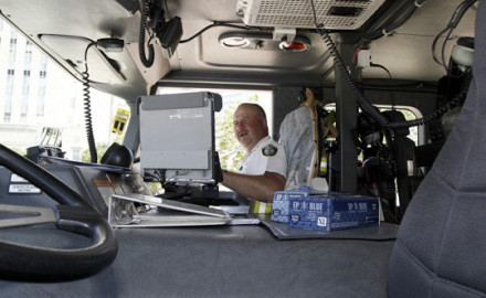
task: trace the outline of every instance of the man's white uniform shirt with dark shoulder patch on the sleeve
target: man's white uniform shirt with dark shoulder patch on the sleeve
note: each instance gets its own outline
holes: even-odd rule
[[[240,172],[251,175],[273,172],[286,178],[287,159],[284,147],[274,141],[270,136],[266,136],[243,158]],[[270,213],[271,210],[271,203],[263,203],[256,200],[253,200],[250,205],[251,213]]]

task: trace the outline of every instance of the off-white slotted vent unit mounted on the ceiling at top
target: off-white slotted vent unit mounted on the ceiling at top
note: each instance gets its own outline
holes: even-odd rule
[[[359,29],[385,0],[314,0],[317,23],[326,29]],[[239,0],[237,14],[254,26],[315,28],[310,0]]]

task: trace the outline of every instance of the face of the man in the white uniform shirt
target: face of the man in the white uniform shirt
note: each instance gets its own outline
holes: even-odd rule
[[[246,152],[268,135],[265,118],[253,106],[242,105],[233,114],[234,135]]]

